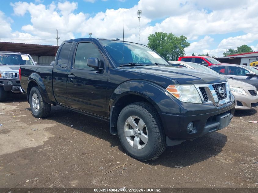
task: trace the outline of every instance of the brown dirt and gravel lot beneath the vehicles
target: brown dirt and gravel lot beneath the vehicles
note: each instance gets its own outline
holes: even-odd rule
[[[258,123],[248,123],[257,110],[236,111],[227,128],[139,162],[108,122],[60,106],[38,120],[25,96],[13,95],[0,103],[0,187],[258,187]]]

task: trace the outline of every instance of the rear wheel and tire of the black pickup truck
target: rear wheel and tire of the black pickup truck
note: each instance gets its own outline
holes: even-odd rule
[[[49,116],[51,104],[48,104],[44,101],[38,87],[31,88],[29,99],[33,116],[35,116],[36,118]]]

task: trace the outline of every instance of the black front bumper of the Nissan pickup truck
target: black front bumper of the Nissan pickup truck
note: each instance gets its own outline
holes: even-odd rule
[[[202,137],[227,127],[234,115],[235,98],[231,95],[230,102],[218,107],[213,104],[181,103],[181,105],[177,110],[180,112],[178,114],[159,112],[168,146]],[[228,123],[224,123],[224,126],[221,127],[221,117],[224,115],[228,115]],[[191,133],[187,131],[187,125],[190,122],[194,124]]]

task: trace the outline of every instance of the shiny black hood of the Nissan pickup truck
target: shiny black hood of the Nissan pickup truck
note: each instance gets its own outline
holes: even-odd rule
[[[174,66],[136,66],[125,69],[169,77],[172,80],[176,80],[179,84],[212,84],[227,81],[225,77],[219,74],[191,68],[179,68]]]

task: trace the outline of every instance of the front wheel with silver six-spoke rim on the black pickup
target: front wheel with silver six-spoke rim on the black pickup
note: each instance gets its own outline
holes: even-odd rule
[[[141,161],[158,157],[166,148],[158,113],[147,102],[135,102],[122,109],[118,136],[126,152]]]

